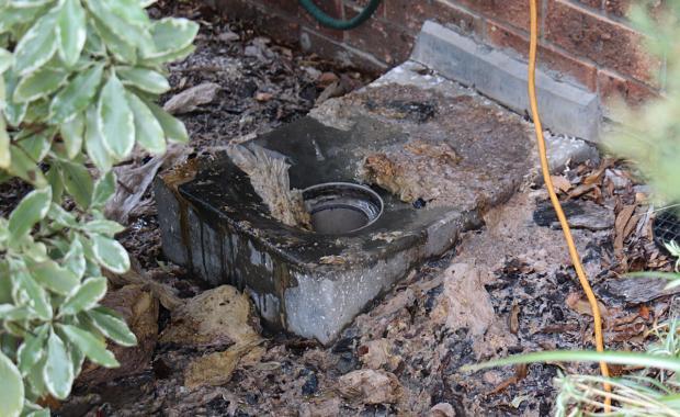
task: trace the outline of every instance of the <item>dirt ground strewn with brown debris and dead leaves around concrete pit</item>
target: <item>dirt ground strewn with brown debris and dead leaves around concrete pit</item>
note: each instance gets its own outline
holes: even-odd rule
[[[276,45],[247,24],[224,23],[192,3],[161,1],[158,8],[157,13],[203,23],[196,52],[171,67],[174,88],[166,99],[206,82],[219,86],[212,100],[180,115],[194,153],[267,132],[306,114],[315,101],[372,79]],[[150,160],[139,159],[140,165]],[[575,237],[604,307],[605,342],[615,349],[639,349],[653,323],[673,309],[672,294],[631,298],[635,284],[621,284],[626,271],[670,268],[651,240],[646,189],[609,159],[570,167],[556,181],[576,218]],[[132,300],[136,304],[131,314],[149,318],[135,324],[148,330],[143,343],[137,350],[120,350],[122,371],[87,370],[72,398],[56,414],[549,415],[557,372],[597,372],[596,365],[460,371],[464,364],[510,353],[592,347],[588,305],[541,187],[526,183],[508,204],[487,213],[485,227],[420,267],[329,348],[267,334],[248,314],[238,323],[242,331],[252,333],[249,343],[234,343],[243,336],[241,330],[224,340],[186,342],[168,336],[182,326],[177,311],[171,314],[168,303],[144,298],[152,288],[116,289],[109,300],[112,305]],[[3,192],[11,199],[18,191]],[[181,303],[205,294],[208,289],[163,260],[152,195],[147,191],[120,236],[139,261],[139,272],[170,289]],[[235,346],[247,348],[227,363]],[[222,376],[219,384],[206,386],[201,377],[188,384],[197,360],[213,353],[220,361],[211,381]]]

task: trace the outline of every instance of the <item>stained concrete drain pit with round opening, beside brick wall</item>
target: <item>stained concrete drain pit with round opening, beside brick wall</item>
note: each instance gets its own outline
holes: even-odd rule
[[[420,109],[427,117],[413,116]],[[519,115],[411,61],[240,146],[282,158],[288,178],[253,187],[226,151],[166,172],[155,184],[163,252],[248,293],[271,329],[322,343],[480,227],[533,168]],[[256,191],[273,182],[304,202],[316,230],[276,221]]]

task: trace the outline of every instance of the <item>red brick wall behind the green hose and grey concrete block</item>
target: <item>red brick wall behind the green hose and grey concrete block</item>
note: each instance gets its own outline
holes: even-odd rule
[[[360,68],[384,69],[409,56],[424,20],[526,56],[529,0],[383,0],[359,29],[325,29],[296,0],[208,0],[223,13],[254,20],[280,41]],[[597,91],[637,104],[659,92],[664,63],[649,57],[625,14],[635,0],[539,0],[540,63]],[[661,3],[662,0],[658,0]],[[327,13],[351,18],[366,0],[317,0]],[[660,9],[661,5],[656,8]]]

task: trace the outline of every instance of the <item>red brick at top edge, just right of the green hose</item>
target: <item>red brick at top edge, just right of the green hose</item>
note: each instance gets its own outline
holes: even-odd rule
[[[481,32],[480,18],[439,0],[389,0],[386,4],[387,21],[405,26],[412,34],[420,32],[426,20],[453,25],[467,34]]]

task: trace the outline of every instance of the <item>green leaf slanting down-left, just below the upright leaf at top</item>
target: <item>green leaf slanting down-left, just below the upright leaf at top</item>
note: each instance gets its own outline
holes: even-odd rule
[[[97,95],[102,82],[104,64],[97,64],[76,76],[49,104],[49,117],[59,124],[84,111]]]

